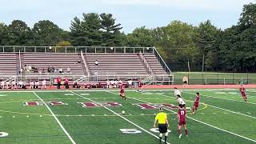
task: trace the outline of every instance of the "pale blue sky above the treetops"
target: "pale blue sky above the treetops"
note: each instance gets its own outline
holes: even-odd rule
[[[74,17],[82,13],[111,13],[122,31],[136,27],[155,28],[180,20],[198,26],[207,19],[221,29],[237,24],[242,6],[255,0],[2,0],[0,22],[9,25],[20,19],[30,27],[48,19],[70,30]]]

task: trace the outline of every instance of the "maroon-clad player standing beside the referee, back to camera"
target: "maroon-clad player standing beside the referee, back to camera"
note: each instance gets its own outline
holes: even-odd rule
[[[182,126],[185,129],[185,134],[186,137],[188,137],[188,131],[186,128],[186,108],[184,108],[181,104],[178,105],[179,106],[179,110],[178,110],[178,114],[177,114],[177,118],[178,118],[178,138],[182,138]]]

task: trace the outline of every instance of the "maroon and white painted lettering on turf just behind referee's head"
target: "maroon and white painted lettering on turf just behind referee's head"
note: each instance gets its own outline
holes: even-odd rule
[[[178,106],[174,106],[173,104],[151,104],[151,103],[138,103],[138,104],[133,104],[136,106],[139,106],[143,110],[153,110],[153,109],[158,109],[159,107],[164,107],[166,109],[178,109]]]

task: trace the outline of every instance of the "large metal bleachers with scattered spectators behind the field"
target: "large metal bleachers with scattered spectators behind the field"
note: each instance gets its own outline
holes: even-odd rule
[[[94,63],[96,60],[98,66]],[[24,65],[37,67],[38,73],[23,70],[18,75],[19,67]],[[57,72],[48,73],[49,66]],[[58,73],[59,69],[64,73]],[[173,81],[169,67],[154,47],[0,46],[0,77],[8,78],[6,74],[26,82],[52,81],[57,77],[85,82],[105,82],[107,78],[122,81],[141,78],[150,84]]]

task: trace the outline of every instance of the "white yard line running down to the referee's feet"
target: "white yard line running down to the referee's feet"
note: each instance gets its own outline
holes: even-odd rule
[[[76,93],[74,93],[73,91],[71,91],[71,90],[67,90],[67,91],[70,91],[70,93],[73,93],[73,94],[76,94]],[[111,93],[112,94],[112,93]],[[86,99],[86,100],[89,100],[90,102],[95,102],[94,100],[91,100],[90,98],[86,98],[86,97],[83,97],[82,95],[80,95],[80,94],[76,94],[77,96],[79,96],[79,97],[81,97],[81,98],[84,98],[84,99]],[[97,103],[97,102],[95,102],[95,103]],[[106,109],[106,110],[110,110],[108,107],[106,107],[106,106],[104,106],[104,108]],[[148,130],[145,130],[144,128],[142,128],[141,126],[138,126],[137,124],[135,124],[134,122],[131,122],[129,119],[127,119],[127,118],[124,118],[122,115],[120,115],[120,114],[117,114],[116,112],[114,112],[113,110],[110,110],[110,112],[112,112],[113,114],[116,114],[116,115],[118,115],[118,117],[120,117],[120,118],[122,118],[122,119],[124,119],[124,120],[126,120],[127,122],[130,122],[130,124],[132,124],[132,125],[134,125],[134,126],[136,126],[136,127],[138,127],[139,129],[141,129],[141,130],[143,130],[143,131],[145,131],[147,134],[150,134],[150,135],[152,135],[152,136],[154,136],[154,138],[158,138],[158,136],[157,135],[155,135],[155,134],[152,134],[152,133],[150,133],[150,131],[148,131]],[[159,138],[158,138],[159,139]],[[163,141],[163,140],[162,140]],[[163,141],[164,142],[164,141]],[[167,142],[168,144],[170,144],[170,142]]]

